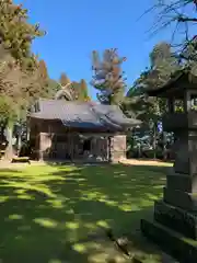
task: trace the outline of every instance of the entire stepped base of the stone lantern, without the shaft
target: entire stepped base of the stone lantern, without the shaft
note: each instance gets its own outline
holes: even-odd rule
[[[163,199],[154,203],[152,221],[141,220],[141,230],[181,262],[197,262],[196,175],[171,170]]]

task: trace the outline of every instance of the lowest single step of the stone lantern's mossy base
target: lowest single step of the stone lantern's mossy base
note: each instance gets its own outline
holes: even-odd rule
[[[154,220],[141,220],[143,235],[179,262],[197,262],[197,241],[187,239]]]

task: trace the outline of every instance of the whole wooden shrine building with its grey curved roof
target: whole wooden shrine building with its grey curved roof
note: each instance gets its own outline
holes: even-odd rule
[[[111,105],[39,100],[30,116],[34,158],[116,163],[126,158],[127,129],[138,124]]]

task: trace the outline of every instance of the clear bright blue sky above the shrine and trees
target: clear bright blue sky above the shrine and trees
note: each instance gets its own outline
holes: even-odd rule
[[[162,31],[150,38],[146,33],[153,22],[153,14],[139,16],[154,0],[18,0],[30,10],[30,21],[38,22],[47,35],[33,44],[33,52],[47,64],[51,78],[66,72],[71,80],[91,81],[91,52],[118,48],[126,56],[124,70],[127,84],[149,64],[149,53],[161,41],[171,37]],[[90,87],[95,99],[96,91]]]

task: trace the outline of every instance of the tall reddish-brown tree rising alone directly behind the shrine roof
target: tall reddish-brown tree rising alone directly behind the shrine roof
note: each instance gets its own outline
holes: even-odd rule
[[[91,84],[99,91],[99,101],[103,104],[120,105],[126,87],[121,65],[126,58],[119,57],[116,48],[106,49],[102,61],[97,52],[94,50],[92,55]]]

